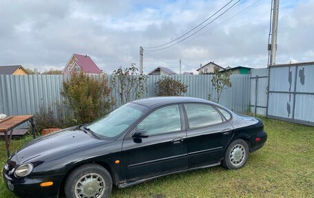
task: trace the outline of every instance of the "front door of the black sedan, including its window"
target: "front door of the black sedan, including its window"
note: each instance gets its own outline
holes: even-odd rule
[[[128,181],[187,169],[187,133],[182,105],[151,112],[123,141],[123,162]],[[148,137],[132,137],[146,132]]]

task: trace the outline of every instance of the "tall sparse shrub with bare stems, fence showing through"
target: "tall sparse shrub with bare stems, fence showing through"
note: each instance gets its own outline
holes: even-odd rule
[[[118,68],[112,72],[112,88],[119,96],[123,105],[134,99],[139,99],[145,91],[147,76],[140,74],[135,63],[129,68]]]

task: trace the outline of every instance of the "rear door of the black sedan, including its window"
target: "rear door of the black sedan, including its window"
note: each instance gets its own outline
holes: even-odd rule
[[[216,108],[185,103],[189,168],[218,164],[233,135],[233,127]]]

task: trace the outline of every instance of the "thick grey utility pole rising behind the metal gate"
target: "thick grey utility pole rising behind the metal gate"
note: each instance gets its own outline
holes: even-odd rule
[[[271,57],[269,66],[275,65],[276,51],[277,51],[277,34],[278,34],[278,12],[279,12],[279,0],[273,0],[273,21],[271,26]]]

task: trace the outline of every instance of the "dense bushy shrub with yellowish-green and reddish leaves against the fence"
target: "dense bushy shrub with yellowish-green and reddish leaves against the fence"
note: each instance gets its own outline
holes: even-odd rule
[[[61,95],[72,110],[71,118],[79,124],[89,123],[108,112],[112,105],[110,92],[105,75],[96,79],[83,72],[72,72],[70,78],[63,81]]]

